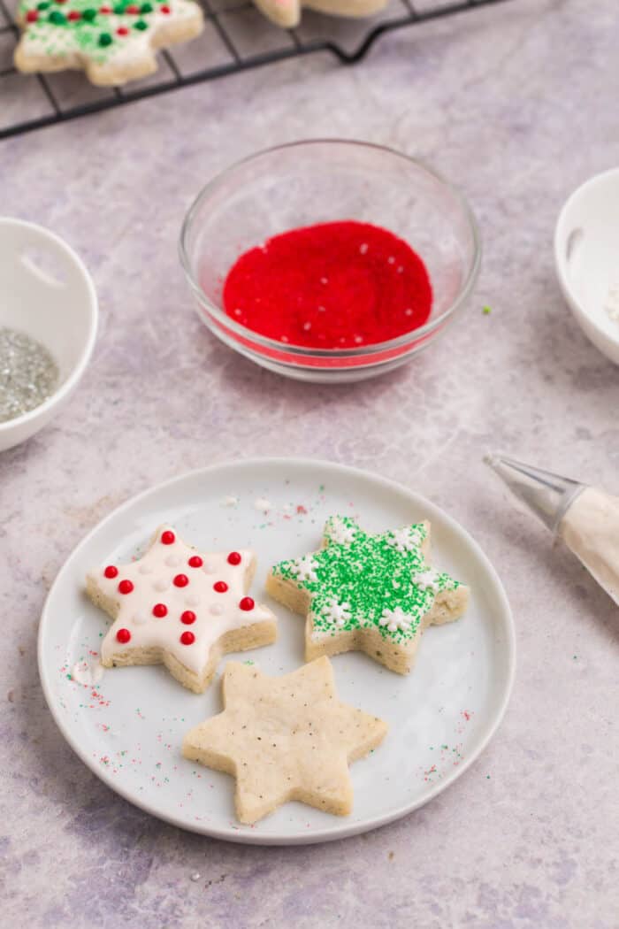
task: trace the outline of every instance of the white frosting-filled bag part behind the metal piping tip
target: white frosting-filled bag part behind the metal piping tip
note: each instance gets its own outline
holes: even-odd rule
[[[619,497],[587,487],[561,519],[559,534],[619,605]]]

